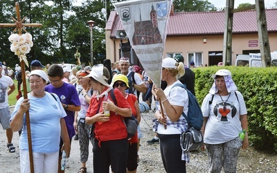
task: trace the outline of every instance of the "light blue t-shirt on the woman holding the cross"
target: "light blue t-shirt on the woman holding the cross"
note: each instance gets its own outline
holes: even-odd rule
[[[57,95],[54,95],[57,98]],[[32,136],[33,152],[51,153],[60,148],[60,119],[66,116],[60,100],[55,100],[50,93],[46,92],[43,98],[36,98],[28,93],[30,99],[30,131]],[[19,110],[21,97],[15,104],[10,121]],[[19,149],[28,150],[28,134],[26,126],[26,114],[24,113],[23,129],[19,140]]]

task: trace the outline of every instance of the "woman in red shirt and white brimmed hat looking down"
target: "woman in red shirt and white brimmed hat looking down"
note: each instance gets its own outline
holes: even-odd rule
[[[121,91],[111,91],[107,83],[109,70],[102,64],[93,66],[84,78],[89,78],[93,91],[97,91],[91,98],[85,119],[88,125],[94,126],[93,172],[108,173],[109,166],[114,172],[126,172],[128,141],[122,117],[131,117],[132,109]],[[106,93],[109,101],[104,101]],[[109,111],[109,116],[104,110]]]

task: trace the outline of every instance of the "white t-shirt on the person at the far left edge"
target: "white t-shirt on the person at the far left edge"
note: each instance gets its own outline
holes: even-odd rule
[[[8,107],[8,87],[12,86],[12,78],[2,75],[0,78],[0,109]]]

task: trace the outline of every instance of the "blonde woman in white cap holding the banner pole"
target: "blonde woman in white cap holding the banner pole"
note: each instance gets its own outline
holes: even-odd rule
[[[166,172],[186,172],[189,152],[182,151],[180,134],[188,129],[186,118],[182,116],[182,112],[188,114],[188,93],[181,86],[172,87],[181,84],[178,78],[184,75],[185,68],[182,62],[178,63],[171,57],[163,59],[161,66],[161,80],[166,81],[168,86],[164,90],[154,86],[154,92],[161,100],[165,117],[158,106],[154,130],[159,136],[161,158]]]

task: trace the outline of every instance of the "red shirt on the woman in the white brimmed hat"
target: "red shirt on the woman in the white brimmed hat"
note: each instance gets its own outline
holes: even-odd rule
[[[105,90],[107,90],[107,89],[108,88],[106,88]],[[130,108],[129,103],[127,102],[126,98],[118,89],[114,89],[114,95],[116,98],[117,107]],[[93,96],[91,98],[91,102],[89,104],[89,109],[87,109],[86,116],[88,116],[88,117],[95,116],[98,113],[97,110],[98,110],[99,105],[100,105],[99,112],[103,111],[103,109],[102,109],[102,100],[103,99],[104,99],[104,97],[99,98],[99,100],[97,100],[96,96]],[[109,91],[109,100],[111,100],[111,102],[113,102],[113,100],[111,99],[110,91]],[[121,117],[122,116],[120,116],[119,114],[116,115],[115,112],[110,111],[109,121],[95,122],[94,123],[95,138],[97,140],[99,140],[99,142],[127,138],[126,126]]]

